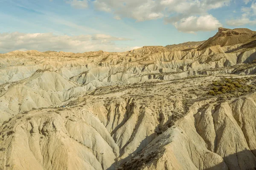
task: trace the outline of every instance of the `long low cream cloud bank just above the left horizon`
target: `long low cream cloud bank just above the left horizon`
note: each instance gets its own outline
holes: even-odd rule
[[[0,34],[0,52],[14,50],[38,50],[38,51],[125,51],[132,47],[119,46],[115,41],[126,41],[130,39],[113,37],[111,35],[54,35],[52,33],[24,34],[20,32]]]

